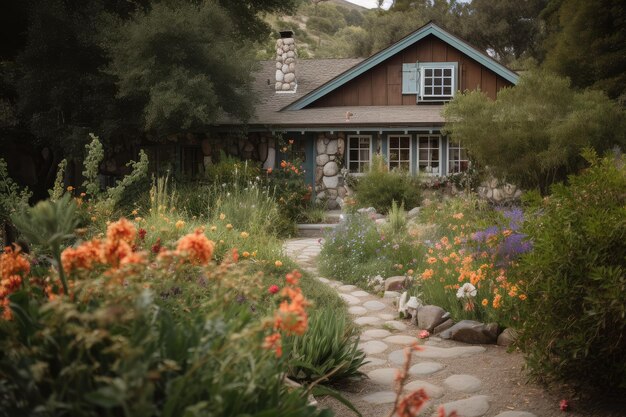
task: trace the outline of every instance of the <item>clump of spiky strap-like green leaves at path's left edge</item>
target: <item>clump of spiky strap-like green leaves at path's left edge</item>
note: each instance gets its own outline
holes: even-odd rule
[[[302,337],[290,338],[289,378],[314,382],[338,383],[363,378],[359,368],[365,354],[358,348],[358,328],[336,311],[317,309],[309,317],[309,331]]]

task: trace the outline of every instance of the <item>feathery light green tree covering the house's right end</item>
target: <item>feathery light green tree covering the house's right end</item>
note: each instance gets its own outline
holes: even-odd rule
[[[566,79],[531,71],[493,101],[481,92],[455,97],[446,130],[480,166],[546,193],[585,165],[584,147],[604,152],[626,145],[624,109],[597,91],[577,92]]]

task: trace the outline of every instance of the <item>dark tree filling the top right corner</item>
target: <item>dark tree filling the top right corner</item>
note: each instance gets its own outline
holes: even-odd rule
[[[552,0],[542,17],[549,30],[544,67],[626,103],[624,3]]]

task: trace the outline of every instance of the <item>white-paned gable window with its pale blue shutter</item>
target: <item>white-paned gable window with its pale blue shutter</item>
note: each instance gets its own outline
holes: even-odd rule
[[[417,62],[402,65],[402,94],[417,101],[449,101],[457,90],[456,62]]]

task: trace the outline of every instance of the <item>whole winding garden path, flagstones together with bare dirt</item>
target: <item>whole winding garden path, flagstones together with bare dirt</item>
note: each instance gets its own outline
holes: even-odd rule
[[[364,417],[387,416],[395,400],[396,370],[404,363],[404,348],[418,341],[418,329],[409,321],[397,319],[395,298],[380,298],[354,285],[320,277],[316,258],[322,244],[319,238],[291,239],[285,242],[284,249],[302,269],[335,288],[354,322],[362,327],[360,347],[369,363],[361,370],[369,379],[340,387],[342,395]],[[424,388],[431,398],[421,416],[433,415],[441,405],[448,413],[457,410],[461,417],[561,414],[557,398],[525,383],[519,353],[507,353],[506,348],[495,345],[467,345],[438,337],[420,344],[424,350],[413,353],[406,389]],[[337,416],[354,415],[333,399],[325,398],[320,403],[332,408]]]

